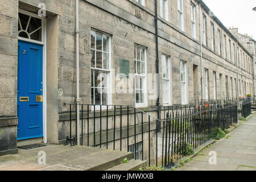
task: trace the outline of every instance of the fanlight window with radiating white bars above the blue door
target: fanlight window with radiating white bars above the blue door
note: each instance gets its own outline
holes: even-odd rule
[[[42,20],[30,15],[19,13],[18,36],[31,40],[42,41]]]

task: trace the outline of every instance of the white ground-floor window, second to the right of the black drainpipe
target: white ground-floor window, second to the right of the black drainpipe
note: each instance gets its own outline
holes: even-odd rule
[[[183,76],[181,77],[181,75]],[[184,79],[182,80],[182,78]],[[180,61],[180,83],[181,83],[181,104],[182,105],[188,104],[187,80],[188,80],[187,79],[187,62]]]

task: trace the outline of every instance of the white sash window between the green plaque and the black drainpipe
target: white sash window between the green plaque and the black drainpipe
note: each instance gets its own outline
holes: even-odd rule
[[[140,53],[140,57],[137,57],[137,48],[140,48],[141,49],[141,53]],[[144,51],[143,51],[144,50]],[[144,54],[144,61],[142,60],[142,52]],[[135,88],[135,106],[136,107],[145,107],[147,106],[147,48],[146,47],[143,47],[143,46],[140,46],[138,44],[135,44],[134,46],[134,68],[135,68],[135,82],[134,82],[134,88]],[[140,64],[140,71],[138,72],[138,67],[137,65]],[[142,65],[144,64],[144,73],[142,73]],[[137,88],[137,79],[142,79],[142,85],[141,85],[141,88]],[[140,83],[140,82],[139,82]],[[140,95],[140,98],[141,96],[144,96],[143,97],[143,101],[144,102],[138,102],[137,103],[137,92],[141,91],[141,95]],[[141,100],[141,99],[140,99]]]

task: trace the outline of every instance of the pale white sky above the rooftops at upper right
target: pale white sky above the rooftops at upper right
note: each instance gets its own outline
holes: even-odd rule
[[[234,26],[240,34],[253,35],[256,40],[256,0],[203,0],[205,5],[224,24]]]

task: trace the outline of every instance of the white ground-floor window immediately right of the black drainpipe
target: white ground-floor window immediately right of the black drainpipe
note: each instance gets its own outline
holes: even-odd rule
[[[163,105],[171,105],[171,61],[170,56],[162,54],[162,93]],[[164,75],[166,74],[166,75]],[[164,84],[165,83],[165,84]]]

